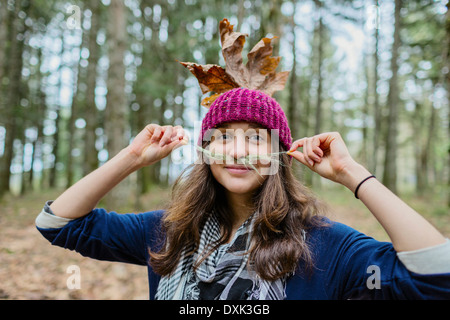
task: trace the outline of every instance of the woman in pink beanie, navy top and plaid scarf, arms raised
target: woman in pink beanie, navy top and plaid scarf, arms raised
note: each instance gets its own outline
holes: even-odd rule
[[[95,208],[129,174],[187,144],[180,126],[150,124],[47,202],[38,230],[85,256],[146,265],[151,299],[450,298],[448,239],[356,163],[338,133],[292,142],[273,98],[237,88],[214,101],[200,138],[205,161],[176,181],[167,210]],[[392,243],[323,217],[292,161],[354,192]]]

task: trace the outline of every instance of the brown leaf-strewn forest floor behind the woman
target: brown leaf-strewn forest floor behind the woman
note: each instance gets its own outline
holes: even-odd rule
[[[6,196],[1,200],[0,299],[148,299],[145,267],[85,258],[51,246],[40,235],[34,220],[44,202],[55,199],[59,193],[50,190],[23,197]],[[316,193],[327,201],[333,212],[329,215],[332,220],[346,223],[377,240],[388,240],[375,218],[350,192],[333,188]],[[168,190],[153,189],[140,200],[146,210],[154,210],[164,208],[169,197]],[[410,196],[406,201],[450,237],[448,209],[431,197]],[[72,265],[79,267],[80,289],[67,286]]]

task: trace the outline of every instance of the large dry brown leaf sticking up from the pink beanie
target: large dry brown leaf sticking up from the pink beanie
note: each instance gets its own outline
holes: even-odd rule
[[[202,100],[203,106],[209,107],[220,94],[233,88],[256,89],[269,96],[284,89],[289,71],[275,71],[281,58],[272,57],[271,42],[274,38],[261,39],[247,54],[244,65],[242,50],[247,34],[233,31],[233,25],[227,19],[220,22],[219,31],[225,69],[214,64],[180,62],[197,78],[203,94],[213,92],[213,95]]]

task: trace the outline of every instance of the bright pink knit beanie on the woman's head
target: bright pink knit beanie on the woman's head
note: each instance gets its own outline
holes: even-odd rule
[[[292,144],[291,130],[278,102],[259,90],[235,88],[220,95],[211,105],[202,122],[200,141],[208,130],[226,122],[258,123],[266,129],[278,129],[285,150]]]

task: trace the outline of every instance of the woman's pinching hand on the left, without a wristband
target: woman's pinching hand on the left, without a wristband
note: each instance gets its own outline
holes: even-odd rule
[[[148,124],[127,147],[137,157],[139,167],[167,157],[174,149],[186,145],[188,137],[181,126]]]

